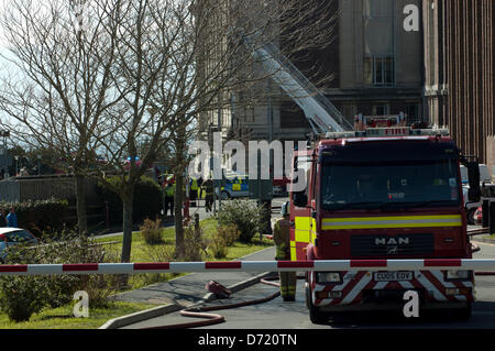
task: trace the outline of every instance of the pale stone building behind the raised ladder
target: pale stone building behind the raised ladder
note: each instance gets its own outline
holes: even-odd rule
[[[349,120],[399,112],[411,122],[424,119],[422,33],[404,30],[407,4],[420,9],[421,0],[333,0],[332,41],[294,62]],[[242,97],[231,96],[230,107],[211,112],[204,125],[226,138],[230,130],[254,140],[305,140],[311,129],[302,110],[272,79],[256,90],[263,96],[256,103],[237,105]]]

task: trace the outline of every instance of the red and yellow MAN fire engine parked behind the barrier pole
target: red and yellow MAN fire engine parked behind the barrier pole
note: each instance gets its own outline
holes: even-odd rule
[[[479,194],[477,160],[461,155],[447,129],[406,125],[403,114],[358,116],[354,131],[329,132],[294,153],[292,260],[471,259],[460,164]],[[477,176],[477,180],[476,180]],[[312,322],[331,312],[404,307],[470,318],[471,271],[307,272]]]

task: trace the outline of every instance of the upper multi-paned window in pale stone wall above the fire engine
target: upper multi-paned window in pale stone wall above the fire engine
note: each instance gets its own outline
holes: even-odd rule
[[[394,55],[369,55],[364,58],[364,83],[377,87],[395,85]]]

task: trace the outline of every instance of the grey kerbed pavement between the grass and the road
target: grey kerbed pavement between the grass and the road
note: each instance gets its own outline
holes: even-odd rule
[[[275,246],[272,246],[241,257],[239,261],[273,261],[274,256]],[[213,278],[232,293],[237,293],[258,283],[261,278],[271,274],[271,272],[199,272],[121,293],[111,298],[117,301],[151,304],[157,305],[157,307],[111,319],[100,329],[123,327],[139,329],[142,321],[163,318],[163,315],[213,300],[217,298],[216,295],[205,289],[205,285]]]

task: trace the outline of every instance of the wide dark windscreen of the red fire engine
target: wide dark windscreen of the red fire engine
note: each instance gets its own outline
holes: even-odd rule
[[[323,209],[459,206],[458,162],[323,163]]]

